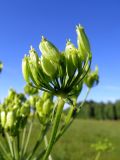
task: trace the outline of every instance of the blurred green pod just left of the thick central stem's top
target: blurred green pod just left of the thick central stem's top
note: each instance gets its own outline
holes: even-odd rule
[[[49,115],[51,111],[52,102],[50,99],[47,99],[43,104],[43,114]]]

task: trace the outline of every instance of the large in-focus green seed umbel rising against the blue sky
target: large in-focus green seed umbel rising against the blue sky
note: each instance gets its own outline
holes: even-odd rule
[[[57,47],[42,37],[38,56],[34,48],[22,61],[22,71],[26,82],[33,87],[64,98],[75,94],[77,85],[83,83],[91,65],[91,49],[82,26],[76,27],[77,48],[70,40],[65,50]]]

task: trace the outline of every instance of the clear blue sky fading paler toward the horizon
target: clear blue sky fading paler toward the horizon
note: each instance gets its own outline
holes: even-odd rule
[[[13,87],[23,91],[21,61],[30,45],[38,52],[44,35],[60,50],[66,38],[76,44],[76,24],[85,27],[93,62],[99,66],[100,84],[88,99],[120,98],[120,1],[119,0],[4,0],[0,1],[0,98]],[[39,52],[40,55],[40,52]]]

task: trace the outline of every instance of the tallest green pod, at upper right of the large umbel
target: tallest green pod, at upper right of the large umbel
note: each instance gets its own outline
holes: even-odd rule
[[[84,28],[79,25],[76,27],[76,32],[78,35],[78,49],[80,49],[81,47],[83,48],[84,51],[86,51],[87,53],[90,53],[90,44],[89,44],[89,40],[85,34]]]

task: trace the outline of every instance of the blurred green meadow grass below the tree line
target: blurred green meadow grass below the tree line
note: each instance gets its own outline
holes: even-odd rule
[[[38,122],[35,122],[28,152],[34,146],[39,133],[40,126]],[[105,138],[113,144],[114,150],[103,153],[100,160],[119,160],[120,121],[76,119],[55,144],[52,151],[53,160],[94,160],[96,152],[91,148],[91,144]],[[37,152],[40,151],[41,148]]]

